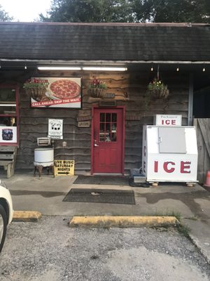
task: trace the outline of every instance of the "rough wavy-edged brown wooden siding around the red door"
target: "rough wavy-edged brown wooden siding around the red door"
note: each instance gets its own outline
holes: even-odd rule
[[[13,75],[22,82],[33,74]],[[87,86],[93,77],[106,81],[109,93],[127,93],[129,100],[118,100],[117,105],[125,105],[125,173],[141,166],[142,126],[153,124],[155,114],[180,114],[183,125],[188,118],[188,74],[162,73],[168,84],[170,95],[167,100],[151,100],[146,107],[146,86],[155,73],[146,72],[40,72],[43,77],[83,77],[83,108],[31,108],[29,97],[20,86],[20,148],[16,162],[17,169],[34,168],[34,148],[36,139],[48,135],[48,118],[64,119],[64,140],[55,141],[55,159],[74,159],[76,174],[90,174],[91,165],[91,109],[99,102],[90,100]],[[4,81],[6,81],[4,77]],[[13,80],[14,82],[14,80]],[[78,117],[90,117],[90,128],[79,128]],[[67,142],[63,150],[62,141]]]

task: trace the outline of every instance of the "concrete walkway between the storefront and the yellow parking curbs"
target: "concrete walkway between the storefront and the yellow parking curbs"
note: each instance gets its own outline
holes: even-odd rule
[[[162,184],[151,188],[132,188],[129,185],[73,184],[76,176],[43,175],[41,180],[32,174],[15,175],[7,179],[15,210],[39,211],[43,215],[60,216],[162,216],[180,213],[182,223],[190,227],[190,237],[210,262],[210,192],[200,185],[188,188],[184,184]],[[134,190],[135,205],[62,202],[71,188],[110,188]]]

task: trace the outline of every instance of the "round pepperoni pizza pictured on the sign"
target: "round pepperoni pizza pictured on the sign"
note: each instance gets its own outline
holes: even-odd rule
[[[50,84],[50,90],[55,98],[60,100],[66,98],[76,98],[80,94],[80,86],[75,82],[67,79],[59,79]]]

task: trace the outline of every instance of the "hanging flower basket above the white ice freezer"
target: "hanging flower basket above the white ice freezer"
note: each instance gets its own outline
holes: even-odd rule
[[[167,98],[169,96],[169,89],[166,84],[163,84],[160,79],[153,79],[148,86],[148,93],[153,98]]]

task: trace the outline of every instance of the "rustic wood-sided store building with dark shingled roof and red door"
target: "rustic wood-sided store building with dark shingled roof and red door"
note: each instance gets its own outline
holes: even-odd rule
[[[18,146],[22,173],[34,169],[49,119],[62,119],[54,157],[73,159],[75,174],[127,174],[141,167],[142,128],[153,115],[182,115],[182,124],[192,125],[194,112],[209,102],[206,95],[193,109],[195,91],[210,84],[210,25],[1,22],[0,37],[0,123],[17,129],[11,143],[1,130],[0,145]],[[148,91],[157,75],[169,96]],[[42,106],[34,97],[33,106],[23,87],[31,77],[70,79],[80,93],[69,106],[55,106],[50,93]],[[106,89],[92,93],[94,83]]]

